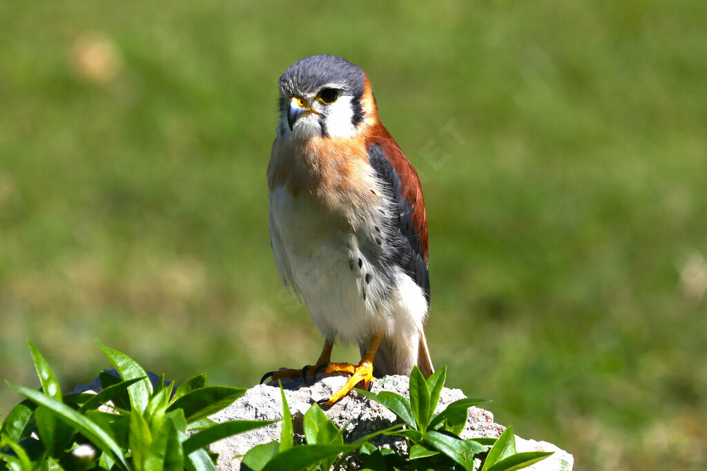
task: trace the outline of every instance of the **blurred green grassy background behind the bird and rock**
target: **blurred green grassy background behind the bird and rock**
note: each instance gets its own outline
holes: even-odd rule
[[[331,53],[423,180],[448,385],[578,470],[706,469],[707,2],[261,3],[0,2],[0,378],[38,384],[25,338],[67,390],[96,338],[315,360],[264,174],[280,73]]]

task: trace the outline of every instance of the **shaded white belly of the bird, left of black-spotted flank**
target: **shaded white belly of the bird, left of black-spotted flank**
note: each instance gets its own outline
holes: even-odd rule
[[[390,315],[375,309],[381,302],[371,287],[376,273],[346,221],[280,187],[270,194],[270,234],[281,275],[302,294],[322,335],[360,343],[389,330]]]

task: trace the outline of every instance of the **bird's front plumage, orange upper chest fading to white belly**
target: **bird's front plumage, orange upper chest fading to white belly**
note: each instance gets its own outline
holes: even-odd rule
[[[390,205],[367,161],[339,157],[276,153],[274,146],[270,232],[281,275],[320,330],[356,340],[385,322],[380,304],[392,275],[382,264],[382,233]]]

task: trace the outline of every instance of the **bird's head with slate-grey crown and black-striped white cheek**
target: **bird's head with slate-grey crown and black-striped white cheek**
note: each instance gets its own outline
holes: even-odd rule
[[[377,119],[366,73],[338,56],[300,59],[284,71],[279,88],[278,136],[350,138]]]

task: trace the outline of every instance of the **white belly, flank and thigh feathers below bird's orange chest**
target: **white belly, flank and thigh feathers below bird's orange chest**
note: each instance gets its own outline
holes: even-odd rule
[[[354,198],[334,198],[328,205],[306,191],[293,198],[286,184],[271,186],[275,261],[325,338],[365,350],[382,333],[375,367],[408,374],[417,362],[428,305],[422,288],[389,256],[386,234],[399,230],[390,226],[392,198],[375,177],[362,181],[373,183]]]

